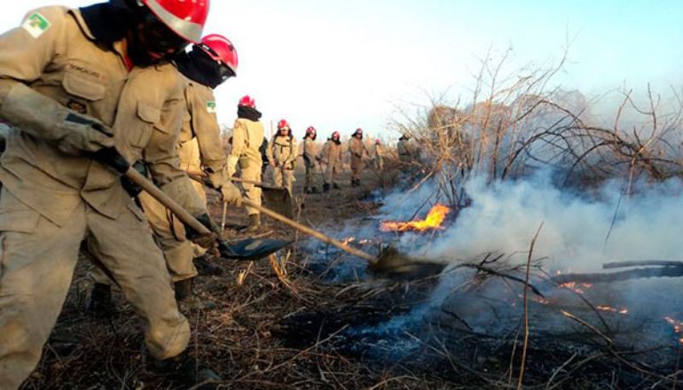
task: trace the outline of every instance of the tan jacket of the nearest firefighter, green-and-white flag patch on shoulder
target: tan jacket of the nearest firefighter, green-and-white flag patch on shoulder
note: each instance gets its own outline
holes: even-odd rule
[[[80,12],[65,7],[31,12],[22,27],[0,35],[0,118],[12,124],[0,181],[58,225],[81,199],[112,218],[131,205],[119,175],[56,146],[59,123],[76,113],[110,126],[124,157],[144,156],[164,191],[192,214],[204,212],[178,166],[184,102],[177,71],[166,65],[129,73],[120,43],[107,50],[92,39]]]

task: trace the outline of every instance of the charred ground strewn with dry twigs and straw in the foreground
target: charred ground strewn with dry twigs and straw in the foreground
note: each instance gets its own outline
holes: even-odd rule
[[[368,171],[366,187],[350,189],[345,174],[342,191],[301,199],[300,220],[334,232],[344,222],[372,216],[380,206],[372,193],[379,179]],[[394,177],[382,175],[381,180],[391,183]],[[296,187],[301,194],[302,177]],[[220,218],[217,204],[212,213]],[[244,224],[246,214],[231,210],[228,222]],[[189,354],[220,374],[222,388],[516,387],[523,339],[518,301],[491,299],[486,290],[470,289],[434,307],[426,302],[437,288],[436,279],[408,283],[367,277],[362,261],[311,244],[279,223],[264,222],[258,235],[293,238],[291,250],[279,253],[275,266],[268,260],[217,261],[222,276],[198,277],[203,307],[184,309],[193,331]],[[195,378],[154,369],[145,353],[143,324],[120,293],[114,295],[114,316],[93,318],[83,312],[89,267],[80,262],[43,359],[24,388],[200,388]],[[501,283],[510,289],[508,295],[520,295],[519,286],[515,290],[508,282]],[[477,282],[486,283],[483,278]],[[593,311],[572,304],[569,311],[579,319]],[[595,329],[570,321],[560,330],[549,321],[552,316],[559,321],[556,308],[532,301],[531,309],[525,386],[675,388],[671,379],[678,372],[679,344],[665,324],[659,331],[663,342],[633,347],[627,340],[642,340],[648,333],[636,324],[627,327],[624,340],[616,338],[626,326],[621,315],[585,321],[599,324],[592,325]],[[481,317],[486,321],[476,326]]]

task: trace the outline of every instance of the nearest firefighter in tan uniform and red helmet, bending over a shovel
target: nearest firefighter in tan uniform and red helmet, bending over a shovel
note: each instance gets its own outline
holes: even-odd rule
[[[38,363],[82,241],[145,318],[153,357],[187,346],[163,254],[113,168],[144,154],[163,191],[206,213],[171,152],[182,85],[172,66],[151,65],[198,41],[207,13],[181,0],[45,7],[0,36],[0,118],[12,125],[0,160],[3,390]]]

